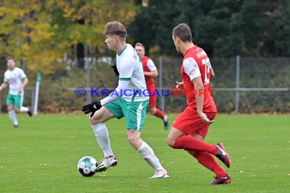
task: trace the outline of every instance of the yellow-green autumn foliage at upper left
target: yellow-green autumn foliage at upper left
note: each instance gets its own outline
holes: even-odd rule
[[[3,1],[0,56],[25,59],[33,72],[54,73],[66,68],[62,57],[73,45],[85,45],[91,56],[104,52],[105,23],[128,24],[136,9],[130,0]]]

